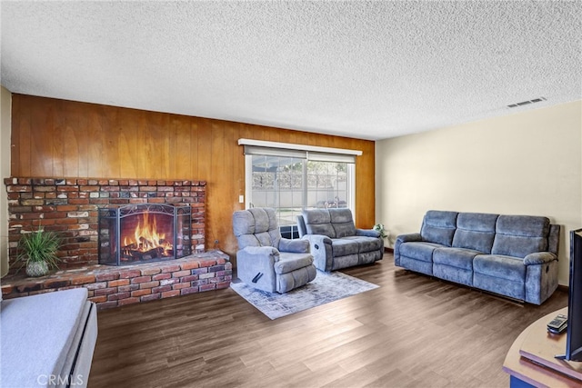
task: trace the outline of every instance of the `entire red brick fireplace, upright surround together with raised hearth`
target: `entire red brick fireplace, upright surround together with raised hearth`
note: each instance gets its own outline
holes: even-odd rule
[[[83,286],[99,308],[107,308],[230,284],[229,256],[205,252],[206,182],[13,177],[5,186],[10,264],[2,279],[5,298]],[[191,254],[171,262],[99,265],[99,210],[130,204],[188,206]],[[40,278],[15,274],[18,240],[39,226],[62,239],[60,270]]]

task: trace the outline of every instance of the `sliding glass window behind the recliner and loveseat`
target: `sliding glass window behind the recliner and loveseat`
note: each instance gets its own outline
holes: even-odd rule
[[[284,237],[297,237],[304,208],[355,207],[355,156],[321,149],[245,145],[246,205],[276,209]]]

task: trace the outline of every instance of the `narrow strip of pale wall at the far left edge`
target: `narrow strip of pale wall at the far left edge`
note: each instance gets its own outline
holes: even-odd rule
[[[8,272],[8,203],[4,178],[10,177],[10,134],[12,94],[0,86],[0,276]]]

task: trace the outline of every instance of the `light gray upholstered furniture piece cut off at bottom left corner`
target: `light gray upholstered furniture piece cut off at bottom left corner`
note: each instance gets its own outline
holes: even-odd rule
[[[2,301],[2,387],[84,387],[97,338],[86,288]]]

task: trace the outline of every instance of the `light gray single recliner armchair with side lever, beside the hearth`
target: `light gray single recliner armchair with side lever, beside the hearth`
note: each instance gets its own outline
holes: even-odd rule
[[[238,241],[238,278],[269,293],[286,293],[316,278],[309,242],[281,237],[274,209],[252,208],[233,214]]]

